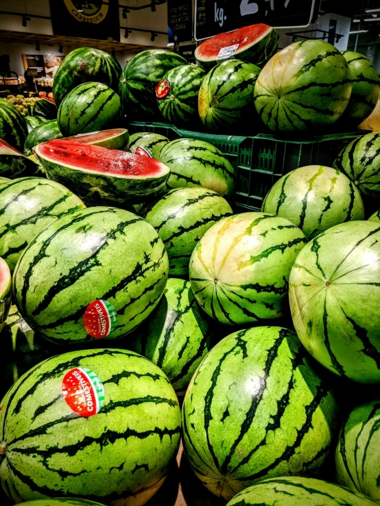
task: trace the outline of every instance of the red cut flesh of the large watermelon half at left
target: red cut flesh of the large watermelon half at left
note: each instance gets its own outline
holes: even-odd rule
[[[114,177],[141,179],[169,174],[169,168],[154,158],[70,140],[38,144],[36,155],[42,161],[47,159],[65,167]]]

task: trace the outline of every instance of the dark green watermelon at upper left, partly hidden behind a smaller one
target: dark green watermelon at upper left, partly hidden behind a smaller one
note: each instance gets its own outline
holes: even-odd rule
[[[71,51],[54,76],[53,95],[57,107],[75,86],[89,81],[110,86],[117,91],[121,66],[116,58],[93,47],[79,47]]]

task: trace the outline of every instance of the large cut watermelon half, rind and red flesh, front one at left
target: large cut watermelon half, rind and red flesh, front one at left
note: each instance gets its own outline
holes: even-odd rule
[[[141,203],[158,194],[170,174],[154,158],[70,140],[38,144],[34,153],[49,179],[95,205]]]

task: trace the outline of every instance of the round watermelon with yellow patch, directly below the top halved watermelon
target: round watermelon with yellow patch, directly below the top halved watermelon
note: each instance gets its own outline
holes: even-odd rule
[[[226,60],[211,69],[199,92],[203,125],[211,130],[225,130],[252,122],[253,90],[260,71],[257,65],[241,60]]]

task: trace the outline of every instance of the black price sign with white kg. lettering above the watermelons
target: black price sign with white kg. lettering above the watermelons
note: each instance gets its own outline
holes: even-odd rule
[[[316,0],[195,0],[195,40],[255,23],[306,27],[318,14]]]

